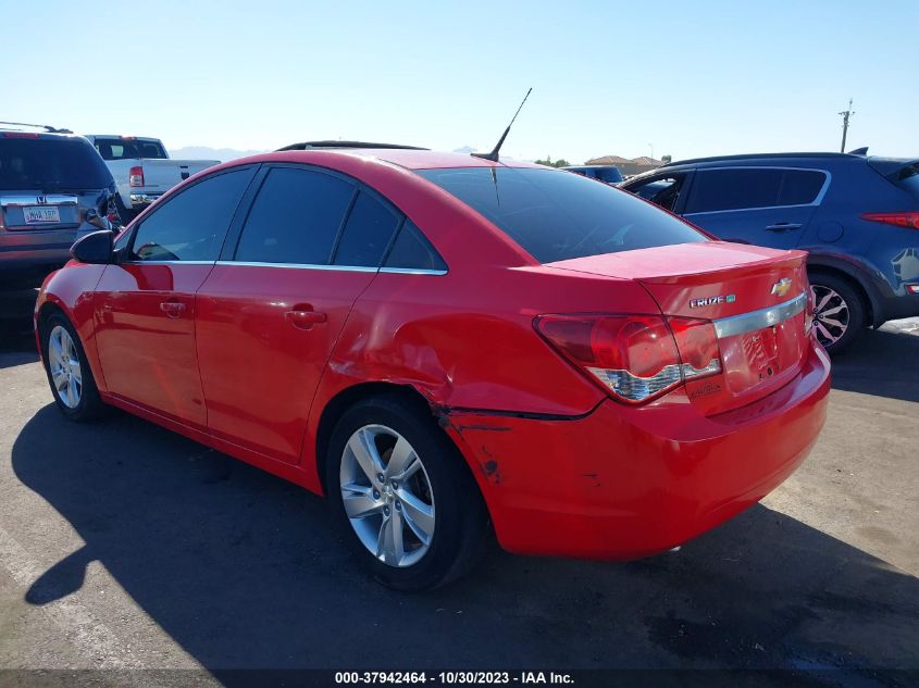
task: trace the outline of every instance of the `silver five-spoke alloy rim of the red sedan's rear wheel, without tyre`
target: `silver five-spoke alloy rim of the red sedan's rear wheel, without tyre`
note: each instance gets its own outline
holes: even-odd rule
[[[385,425],[356,430],[341,455],[339,485],[348,521],[376,559],[402,568],[427,553],[436,523],[434,492],[405,437]]]

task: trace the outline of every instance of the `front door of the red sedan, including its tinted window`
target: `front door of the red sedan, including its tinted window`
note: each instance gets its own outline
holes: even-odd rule
[[[254,166],[222,172],[165,200],[133,229],[126,260],[105,267],[95,292],[96,340],[111,393],[207,427],[195,292],[254,174]]]

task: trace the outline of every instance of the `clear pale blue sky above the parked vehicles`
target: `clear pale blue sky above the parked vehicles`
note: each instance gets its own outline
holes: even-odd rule
[[[489,149],[532,86],[520,159],[837,150],[849,97],[919,155],[915,0],[3,4],[0,118],[172,149]]]

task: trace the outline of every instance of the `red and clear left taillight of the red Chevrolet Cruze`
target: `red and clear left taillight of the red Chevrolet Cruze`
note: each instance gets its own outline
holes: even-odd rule
[[[659,315],[542,315],[537,332],[618,401],[643,403],[721,372],[715,326]]]

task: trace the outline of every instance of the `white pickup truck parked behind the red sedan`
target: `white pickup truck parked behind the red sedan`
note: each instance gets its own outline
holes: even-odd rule
[[[220,164],[219,160],[172,160],[163,142],[142,136],[87,134],[119,187],[119,213],[125,221],[193,174]]]

